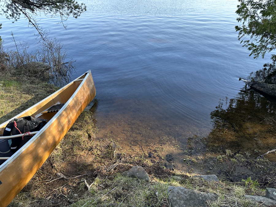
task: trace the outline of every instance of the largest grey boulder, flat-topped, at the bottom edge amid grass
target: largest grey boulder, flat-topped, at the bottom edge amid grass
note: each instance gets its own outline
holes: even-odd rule
[[[205,206],[208,200],[217,199],[217,196],[212,193],[174,186],[169,186],[168,197],[171,207],[200,207]]]

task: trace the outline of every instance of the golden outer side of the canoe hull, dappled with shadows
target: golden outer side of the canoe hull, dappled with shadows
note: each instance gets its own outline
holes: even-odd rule
[[[95,94],[96,89],[89,72],[63,108],[0,167],[0,207],[9,205],[29,182]]]

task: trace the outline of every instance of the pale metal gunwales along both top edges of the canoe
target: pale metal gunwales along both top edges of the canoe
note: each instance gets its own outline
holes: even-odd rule
[[[0,172],[2,170],[4,170],[8,165],[10,165],[11,162],[13,162],[13,160],[15,160],[19,155],[21,155],[21,153],[23,151],[25,151],[25,149],[27,149],[55,120],[56,118],[63,112],[63,110],[69,105],[69,103],[73,100],[73,98],[76,96],[76,94],[79,92],[79,90],[82,88],[83,84],[86,82],[86,79],[88,78],[89,74],[91,73],[91,71],[87,71],[85,75],[85,77],[83,78],[82,82],[80,83],[80,85],[78,86],[78,88],[75,90],[75,92],[72,94],[72,96],[67,100],[67,102],[63,105],[63,107],[50,119],[50,121],[47,122],[47,124],[40,129],[40,131],[38,133],[36,133],[32,139],[30,139],[23,147],[21,147],[16,153],[14,153],[9,159],[6,160],[6,162],[4,162],[1,166],[0,166]],[[51,98],[53,95],[59,93],[60,91],[64,90],[65,88],[67,88],[68,86],[70,86],[71,84],[73,84],[76,80],[78,80],[80,77],[82,77],[84,74],[82,74],[81,76],[79,76],[78,78],[76,78],[75,80],[71,81],[70,83],[68,83],[67,85],[63,86],[61,89],[57,90],[56,92],[54,92],[53,94],[51,94],[50,96],[44,98],[43,100],[41,100],[40,102],[36,103],[35,105],[31,106],[30,108],[35,107],[36,105],[40,104],[41,102],[47,100],[48,98]],[[16,117],[20,117],[21,114],[26,113],[27,111],[29,111],[29,109],[26,109],[25,111],[19,113],[16,115]],[[4,122],[4,123],[8,123],[9,121],[11,121],[12,119],[14,119],[15,117],[11,118],[10,120]],[[3,124],[4,124],[3,123]]]

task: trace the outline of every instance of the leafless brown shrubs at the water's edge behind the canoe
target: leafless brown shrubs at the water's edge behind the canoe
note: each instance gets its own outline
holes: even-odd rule
[[[22,79],[35,78],[62,86],[69,82],[75,72],[75,61],[67,58],[63,44],[55,38],[41,41],[34,52],[29,51],[26,42],[17,44],[14,40],[14,44],[16,51],[4,50],[0,43],[0,70],[5,70],[9,75]]]

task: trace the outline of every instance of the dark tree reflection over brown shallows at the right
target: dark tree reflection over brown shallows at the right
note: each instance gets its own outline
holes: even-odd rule
[[[247,89],[244,86],[236,98],[220,100],[210,113],[213,129],[207,137],[209,147],[248,151],[256,157],[276,148],[276,105]]]

